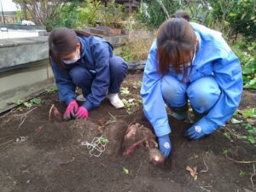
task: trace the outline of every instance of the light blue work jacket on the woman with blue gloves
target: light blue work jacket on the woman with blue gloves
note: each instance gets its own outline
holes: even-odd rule
[[[212,75],[221,90],[218,102],[206,116],[197,122],[202,130],[209,134],[218,126],[224,125],[225,121],[235,113],[240,103],[242,93],[241,65],[220,32],[192,22],[190,25],[199,39],[199,45],[187,83]],[[180,81],[183,79],[183,74],[176,74],[172,67],[166,75],[172,75]],[[158,72],[155,40],[149,50],[148,61],[144,69],[141,96],[143,97],[143,111],[153,125],[157,137],[171,132],[160,89],[162,77]]]

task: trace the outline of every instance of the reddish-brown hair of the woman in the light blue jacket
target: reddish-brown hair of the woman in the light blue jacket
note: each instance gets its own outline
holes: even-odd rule
[[[181,17],[166,20],[160,26],[156,39],[159,72],[168,73],[172,66],[175,73],[182,73],[181,67],[183,67],[183,79],[186,78],[188,76],[186,62],[192,62],[191,52],[194,55],[196,42],[195,32],[189,21]]]

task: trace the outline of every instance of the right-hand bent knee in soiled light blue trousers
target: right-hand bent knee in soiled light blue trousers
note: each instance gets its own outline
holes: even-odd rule
[[[207,113],[218,101],[220,90],[215,79],[200,79],[189,85],[187,95],[197,113]]]

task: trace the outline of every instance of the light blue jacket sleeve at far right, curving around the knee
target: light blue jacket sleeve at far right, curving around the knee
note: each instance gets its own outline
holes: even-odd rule
[[[197,123],[210,134],[231,118],[241,101],[242,76],[240,61],[231,49],[221,50],[221,58],[212,63],[221,94],[209,113]]]

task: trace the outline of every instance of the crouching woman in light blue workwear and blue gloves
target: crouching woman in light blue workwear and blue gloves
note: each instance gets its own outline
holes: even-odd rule
[[[160,26],[143,74],[143,111],[165,157],[172,149],[165,103],[183,120],[189,100],[195,124],[185,135],[197,140],[224,125],[241,100],[238,58],[220,32],[189,22],[188,16],[179,11]]]

